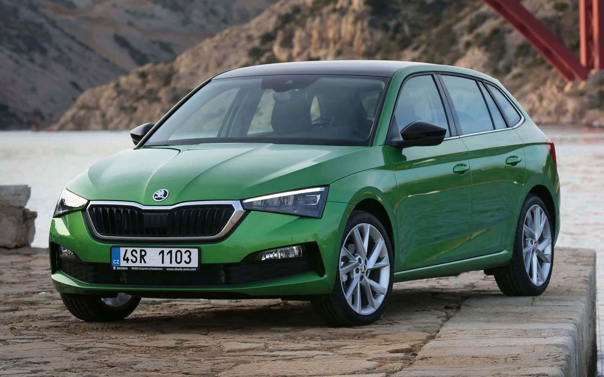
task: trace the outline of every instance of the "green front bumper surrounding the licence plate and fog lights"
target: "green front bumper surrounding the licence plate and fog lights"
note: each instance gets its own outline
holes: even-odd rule
[[[54,286],[61,293],[110,297],[126,292],[141,297],[294,297],[326,294],[333,290],[339,243],[347,203],[327,202],[323,217],[251,211],[226,238],[219,241],[100,241],[95,239],[82,212],[53,218],[50,260]],[[242,263],[251,253],[292,244],[310,246],[306,258],[277,262]],[[82,262],[57,257],[56,245],[77,253]],[[146,276],[111,270],[112,246],[199,247],[199,271]],[[118,276],[117,274],[121,274]],[[170,275],[172,274],[172,275]],[[114,277],[112,277],[114,276]]]

